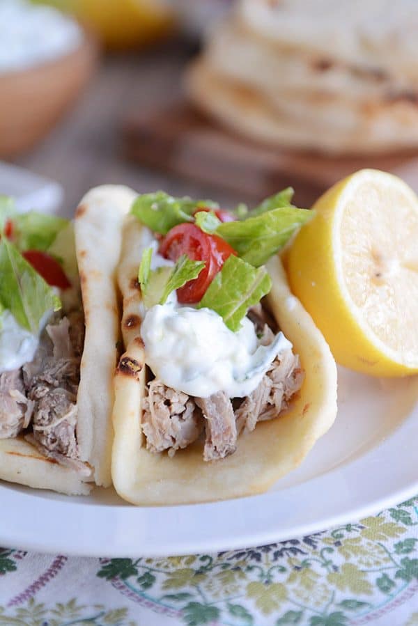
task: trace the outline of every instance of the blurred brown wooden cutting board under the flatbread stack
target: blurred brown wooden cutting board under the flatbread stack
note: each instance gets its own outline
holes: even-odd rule
[[[178,101],[129,116],[123,149],[142,166],[234,191],[243,201],[259,201],[291,185],[295,201],[309,206],[336,180],[364,167],[396,173],[418,191],[418,151],[335,158],[273,149],[227,132]]]

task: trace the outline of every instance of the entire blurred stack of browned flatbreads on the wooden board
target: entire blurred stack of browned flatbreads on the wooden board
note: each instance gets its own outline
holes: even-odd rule
[[[227,127],[274,146],[418,148],[418,0],[241,0],[187,88]]]

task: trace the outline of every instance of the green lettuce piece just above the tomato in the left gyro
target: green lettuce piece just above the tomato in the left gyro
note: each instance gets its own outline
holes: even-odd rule
[[[30,211],[15,215],[13,224],[13,242],[20,250],[46,252],[69,222],[63,217]]]

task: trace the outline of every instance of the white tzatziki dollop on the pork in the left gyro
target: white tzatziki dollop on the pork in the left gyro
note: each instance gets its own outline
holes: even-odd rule
[[[16,370],[32,361],[38,345],[38,335],[22,328],[10,311],[3,311],[0,318],[0,373]]]

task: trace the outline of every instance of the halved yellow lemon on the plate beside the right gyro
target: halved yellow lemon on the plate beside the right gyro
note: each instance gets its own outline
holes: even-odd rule
[[[415,192],[366,169],[314,209],[288,251],[288,275],[336,361],[382,377],[418,373]]]

